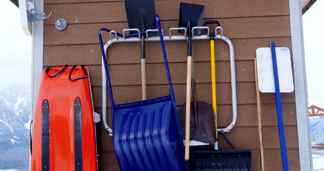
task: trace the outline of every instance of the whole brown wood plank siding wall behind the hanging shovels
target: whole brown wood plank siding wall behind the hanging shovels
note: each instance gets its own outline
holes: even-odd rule
[[[178,26],[178,0],[157,0],[156,13],[160,15],[165,34]],[[269,47],[291,49],[288,0],[184,0],[181,2],[206,6],[204,21],[217,19],[224,35],[232,40],[235,49],[237,78],[237,123],[226,133],[236,148],[251,148],[253,170],[260,170],[260,148],[257,125],[256,92],[254,82],[255,50]],[[95,111],[101,114],[101,52],[98,30],[110,28],[117,32],[128,28],[122,0],[45,0],[45,11],[51,17],[44,21],[44,67],[65,64],[86,65],[90,71]],[[68,26],[59,31],[55,21],[64,18]],[[176,33],[173,33],[176,34]],[[103,34],[108,41],[108,34]],[[186,41],[165,42],[171,78],[177,105],[185,102]],[[211,69],[208,40],[193,42],[198,100],[211,104]],[[231,121],[231,86],[229,51],[225,42],[215,41],[216,89],[219,126]],[[168,94],[163,57],[159,42],[146,42],[147,97]],[[140,44],[116,43],[108,49],[108,67],[111,74],[115,103],[139,101],[141,95]],[[284,124],[291,170],[299,170],[296,127],[295,94],[281,94]],[[107,100],[109,103],[109,100]],[[266,170],[282,170],[277,127],[275,99],[272,93],[261,93],[262,128]],[[110,116],[110,104],[108,104]],[[108,120],[111,125],[111,117]],[[101,125],[101,168],[119,170],[112,145],[112,137]],[[220,149],[230,148],[220,139]]]

